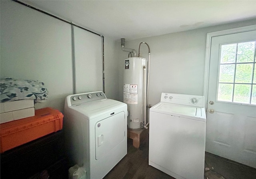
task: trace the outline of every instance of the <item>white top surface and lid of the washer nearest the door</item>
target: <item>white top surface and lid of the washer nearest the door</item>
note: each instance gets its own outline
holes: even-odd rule
[[[205,111],[202,107],[160,102],[151,107],[150,111],[199,121],[206,121]]]

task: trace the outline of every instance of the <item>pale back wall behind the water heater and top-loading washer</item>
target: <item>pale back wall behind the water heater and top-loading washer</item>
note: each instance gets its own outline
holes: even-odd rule
[[[158,103],[162,92],[203,95],[206,34],[252,24],[256,24],[256,19],[138,40],[126,40],[125,48],[134,48],[137,53],[140,42],[146,42],[150,46],[148,104]],[[122,52],[120,41],[116,43],[119,44],[119,68],[122,69],[128,52]],[[140,51],[142,57],[148,59],[148,47],[145,44],[141,45]],[[119,73],[118,99],[122,101],[123,69]]]

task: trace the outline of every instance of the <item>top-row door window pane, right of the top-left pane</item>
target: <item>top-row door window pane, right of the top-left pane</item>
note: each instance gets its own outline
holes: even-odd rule
[[[255,42],[239,43],[237,47],[237,63],[253,62]]]

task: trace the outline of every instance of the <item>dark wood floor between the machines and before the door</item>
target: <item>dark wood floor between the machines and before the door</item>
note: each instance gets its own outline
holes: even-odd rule
[[[193,164],[192,164],[193,165]],[[204,179],[256,179],[256,169],[206,153]],[[186,169],[184,169],[186,170]],[[139,149],[128,139],[127,155],[104,179],[174,179],[148,165],[148,137]]]

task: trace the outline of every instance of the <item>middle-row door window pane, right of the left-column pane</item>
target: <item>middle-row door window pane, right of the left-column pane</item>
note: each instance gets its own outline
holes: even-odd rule
[[[236,65],[236,83],[252,83],[253,64]]]

